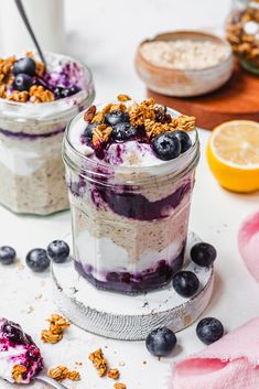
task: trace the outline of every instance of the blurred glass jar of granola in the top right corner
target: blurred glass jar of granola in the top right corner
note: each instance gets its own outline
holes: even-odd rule
[[[242,67],[259,74],[259,1],[235,0],[226,30]]]

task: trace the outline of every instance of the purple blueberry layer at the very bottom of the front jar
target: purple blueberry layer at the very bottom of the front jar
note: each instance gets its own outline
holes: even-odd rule
[[[184,250],[185,245],[179,257],[173,261],[169,262],[166,260],[161,260],[155,268],[147,269],[141,273],[130,274],[129,272],[109,272],[106,275],[106,281],[95,279],[90,266],[83,266],[80,262],[75,261],[75,269],[97,289],[125,294],[143,293],[162,288],[172,280],[173,275],[183,266]]]

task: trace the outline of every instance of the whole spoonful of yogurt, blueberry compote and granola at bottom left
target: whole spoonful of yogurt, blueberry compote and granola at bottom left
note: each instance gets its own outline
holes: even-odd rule
[[[43,358],[31,336],[19,324],[0,318],[0,377],[30,383],[42,369]]]

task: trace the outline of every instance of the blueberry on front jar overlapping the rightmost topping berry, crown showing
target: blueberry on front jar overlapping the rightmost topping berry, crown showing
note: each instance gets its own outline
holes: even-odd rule
[[[163,161],[177,158],[181,153],[181,143],[172,132],[161,133],[152,141],[155,155]]]

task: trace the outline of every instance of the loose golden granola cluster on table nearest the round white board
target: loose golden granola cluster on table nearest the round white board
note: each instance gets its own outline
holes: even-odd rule
[[[56,313],[47,322],[50,322],[48,329],[43,329],[41,333],[41,339],[44,343],[55,344],[60,342],[63,338],[64,331],[71,325],[67,318]]]

